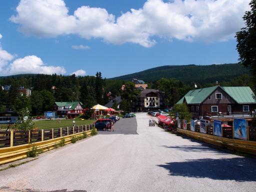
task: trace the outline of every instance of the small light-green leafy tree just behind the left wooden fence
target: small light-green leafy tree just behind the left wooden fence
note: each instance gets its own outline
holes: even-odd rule
[[[19,119],[14,125],[18,130],[31,130],[34,128],[34,122],[29,116],[28,108],[23,108],[18,112]]]

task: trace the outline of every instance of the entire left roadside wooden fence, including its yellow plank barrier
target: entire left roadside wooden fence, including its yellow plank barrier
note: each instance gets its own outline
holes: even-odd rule
[[[94,124],[89,124],[30,131],[0,131],[0,164],[25,158],[33,146],[47,151],[54,148],[62,138],[68,144],[73,136],[81,136],[84,132],[89,136],[93,127]]]

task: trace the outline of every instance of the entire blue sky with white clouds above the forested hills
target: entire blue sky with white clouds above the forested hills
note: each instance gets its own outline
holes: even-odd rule
[[[0,76],[238,61],[250,0],[1,0]]]

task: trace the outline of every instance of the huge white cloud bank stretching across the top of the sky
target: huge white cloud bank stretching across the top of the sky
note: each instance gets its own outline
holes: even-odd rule
[[[121,44],[153,46],[155,36],[194,41],[228,40],[244,26],[250,0],[147,0],[115,18],[104,8],[78,7],[73,15],[63,0],[20,0],[10,20],[36,36],[77,34]],[[43,19],[42,19],[43,18]]]

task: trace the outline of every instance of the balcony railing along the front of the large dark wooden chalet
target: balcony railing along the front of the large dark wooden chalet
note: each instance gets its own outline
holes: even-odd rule
[[[252,117],[252,112],[204,112],[204,116],[209,117]]]

